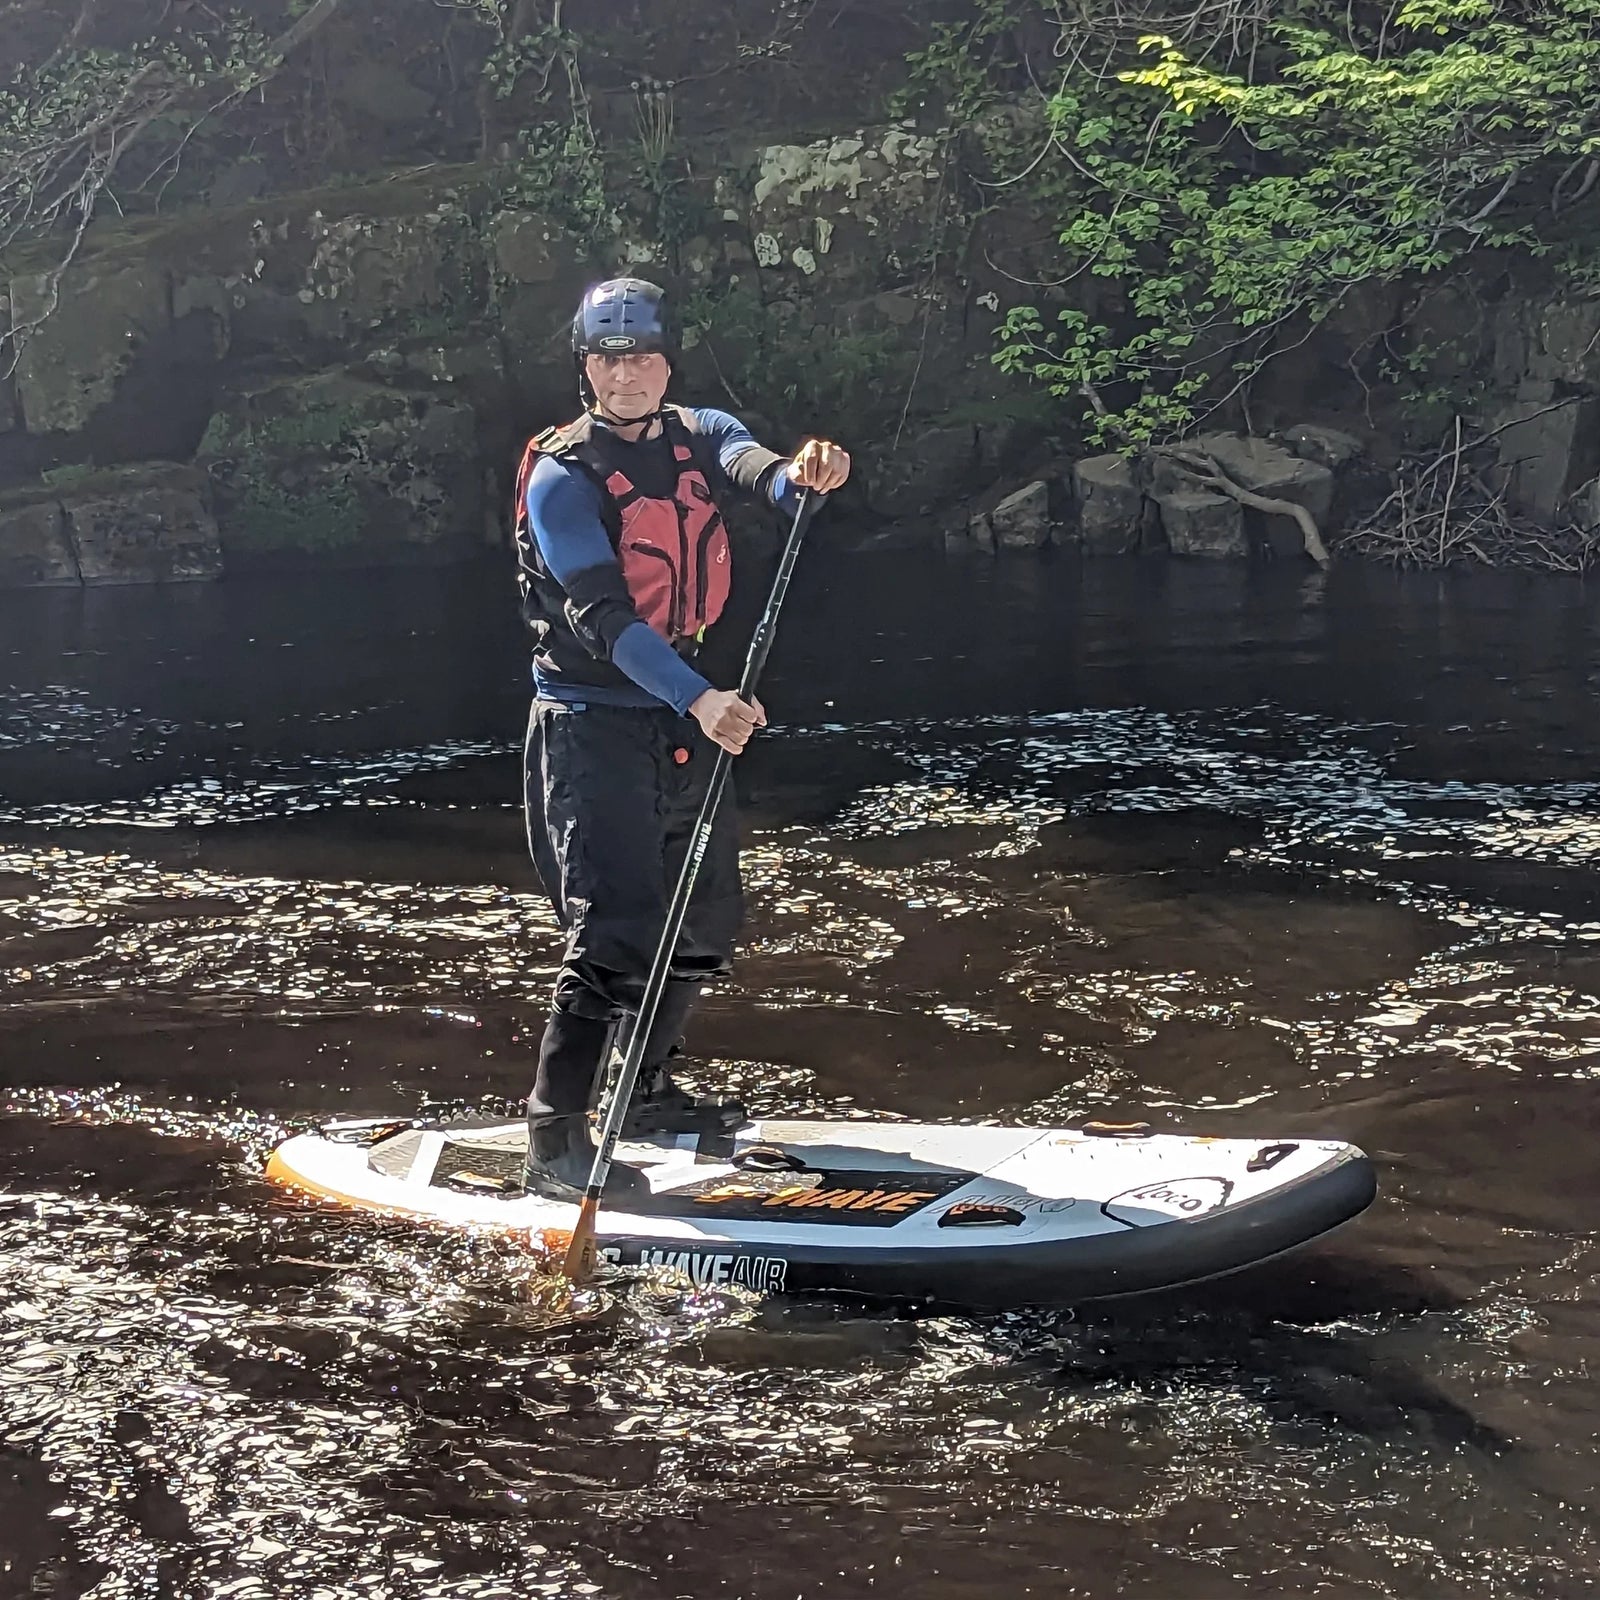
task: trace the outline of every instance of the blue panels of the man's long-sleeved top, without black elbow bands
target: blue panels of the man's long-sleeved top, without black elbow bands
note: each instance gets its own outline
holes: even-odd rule
[[[741,490],[779,510],[792,514],[797,509],[800,491],[790,482],[787,466],[770,450],[763,450],[736,416],[712,408],[694,408],[691,414],[709,446],[706,453],[717,462],[722,478],[720,483],[710,485],[712,494]],[[598,418],[594,426],[605,427]],[[637,443],[613,440],[611,450],[618,453],[638,450],[642,467],[646,456],[658,462],[672,459],[670,446],[661,438]],[[634,477],[634,482],[642,483],[648,477],[646,469]],[[600,515],[600,493],[598,485],[586,472],[555,456],[541,456],[528,478],[530,533],[550,576],[570,595],[597,589],[614,592],[621,584],[622,568]],[[614,579],[610,570],[614,570]],[[611,634],[610,659],[637,688],[608,688],[550,678],[534,664],[534,690],[541,698],[568,702],[666,704],[678,715],[686,715],[690,706],[712,686],[637,614]]]

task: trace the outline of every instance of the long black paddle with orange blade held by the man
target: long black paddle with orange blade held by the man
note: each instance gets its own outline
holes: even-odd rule
[[[755,693],[755,682],[766,666],[773,638],[778,632],[778,611],[789,592],[789,579],[794,576],[795,560],[800,555],[800,544],[805,530],[816,510],[819,494],[810,490],[800,491],[800,504],[795,507],[795,520],[784,544],[784,554],[778,562],[778,576],[773,579],[771,594],[766,597],[766,610],[755,624],[750,637],[750,653],[744,658],[744,675],[739,678],[739,699],[749,701]],[[667,906],[667,922],[661,930],[661,942],[656,946],[656,958],[650,963],[650,978],[645,981],[645,995],[638,1003],[638,1016],[627,1040],[627,1054],[622,1058],[622,1070],[618,1074],[616,1086],[606,1106],[605,1126],[600,1130],[600,1149],[595,1150],[594,1166],[589,1170],[589,1187],[584,1190],[584,1202],[578,1208],[578,1221],[573,1224],[573,1237],[562,1259],[562,1272],[574,1283],[586,1278],[594,1270],[595,1214],[600,1210],[600,1195],[605,1190],[606,1174],[611,1171],[611,1160],[616,1155],[618,1134],[627,1117],[627,1107],[634,1099],[634,1088],[638,1083],[640,1067],[645,1064],[645,1046],[650,1042],[650,1029],[661,1006],[661,995],[667,987],[667,973],[672,970],[672,955],[678,947],[678,933],[683,930],[683,917],[690,909],[690,896],[694,893],[694,880],[699,877],[701,862],[706,859],[706,848],[710,845],[712,822],[717,819],[717,805],[722,792],[728,786],[728,773],[733,768],[733,757],[717,749],[717,763],[710,770],[710,782],[706,786],[706,798],[701,800],[699,816],[694,819],[694,832],[690,835],[690,850],[683,858],[683,870],[678,874],[678,886],[672,891],[672,902]]]

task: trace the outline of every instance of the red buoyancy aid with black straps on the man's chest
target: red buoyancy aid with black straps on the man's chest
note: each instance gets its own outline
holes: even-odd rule
[[[698,637],[728,603],[733,562],[728,528],[694,461],[682,413],[674,406],[661,414],[678,467],[669,499],[642,494],[634,480],[589,442],[587,422],[579,418],[570,427],[550,429],[528,442],[517,469],[518,533],[526,523],[528,480],[539,456],[576,461],[600,490],[602,520],[640,619],[669,643]]]

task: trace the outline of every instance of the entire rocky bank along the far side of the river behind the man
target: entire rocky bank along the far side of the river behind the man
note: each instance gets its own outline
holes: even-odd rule
[[[437,88],[397,62],[358,64],[344,90],[373,125],[414,128],[440,109]],[[637,93],[613,107],[624,131]],[[1014,131],[1032,138],[1024,107],[992,115],[1021,118]],[[146,578],[210,570],[213,510],[234,562],[437,562],[482,549],[486,530],[504,538],[515,446],[574,413],[566,328],[579,288],[619,270],[659,277],[678,299],[677,397],[766,413],[758,437],[779,450],[805,434],[842,438],[856,458],[845,504],[917,538],[942,534],[960,550],[1077,541],[1109,555],[1166,542],[1178,554],[1302,558],[1293,517],[1229,509],[1178,464],[1096,454],[1058,472],[1051,462],[1082,437],[1075,402],[1064,408],[992,360],[1018,302],[1018,277],[995,261],[1022,270],[1032,221],[1021,227],[998,206],[995,238],[949,270],[944,224],[931,227],[949,200],[942,139],[910,120],[805,128],[757,115],[696,147],[672,206],[581,174],[446,160],[285,195],[238,162],[232,182],[218,174],[206,190],[210,210],[126,227],[98,219],[59,285],[40,272],[54,258],[13,251],[0,328],[22,338],[14,373],[0,350],[0,490],[27,493],[5,502],[0,582],[134,579],[139,550],[152,562]],[[810,142],[774,142],[792,138]],[[1003,246],[994,259],[990,243]],[[1069,293],[1096,317],[1112,314],[1088,278]],[[1392,326],[1414,334],[1394,296],[1323,355],[1342,363]],[[1434,342],[1462,333],[1451,376],[1483,382],[1488,424],[1507,424],[1499,448],[1514,504],[1554,520],[1582,501],[1571,515],[1587,517],[1595,496],[1581,491],[1600,474],[1600,302],[1531,278],[1488,304],[1437,285],[1429,296]],[[1477,320],[1462,331],[1469,312]],[[1338,414],[1317,366],[1286,366],[1296,398],[1272,400],[1266,382],[1253,414]],[[1371,418],[1384,395],[1368,390],[1362,381]],[[1384,424],[1373,427],[1381,454]],[[1378,504],[1378,464],[1360,464],[1360,440],[1320,421],[1187,443],[1320,525],[1347,522],[1363,496]],[[69,493],[59,477],[186,461],[205,472],[210,510],[192,491],[179,504],[179,480],[163,478],[179,499],[157,514],[141,480],[123,518],[102,501],[80,526],[82,486]],[[1070,494],[1058,482],[1067,475]],[[202,530],[190,554],[154,531],[178,525]]]

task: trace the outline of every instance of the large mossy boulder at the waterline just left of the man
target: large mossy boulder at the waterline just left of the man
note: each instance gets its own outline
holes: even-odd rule
[[[440,562],[482,544],[477,422],[458,398],[323,373],[242,387],[200,445],[229,562]]]

